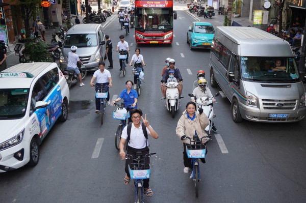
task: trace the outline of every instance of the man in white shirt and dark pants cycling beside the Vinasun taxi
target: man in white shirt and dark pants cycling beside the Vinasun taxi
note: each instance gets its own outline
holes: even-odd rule
[[[96,83],[93,83],[93,81],[96,80]],[[93,73],[93,76],[90,80],[90,86],[95,86],[95,91],[98,92],[98,90],[105,90],[108,94],[107,94],[107,104],[110,105],[110,93],[109,93],[109,87],[113,86],[113,82],[112,82],[112,76],[111,73],[105,69],[105,63],[101,62],[99,63],[99,70],[96,70]],[[96,103],[96,110],[95,113],[100,113],[100,99],[99,98],[95,98],[95,103]]]

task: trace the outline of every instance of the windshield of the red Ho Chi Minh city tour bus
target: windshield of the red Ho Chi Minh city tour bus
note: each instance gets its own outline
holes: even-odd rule
[[[173,27],[172,8],[141,8],[135,13],[135,27],[143,30],[166,30]]]

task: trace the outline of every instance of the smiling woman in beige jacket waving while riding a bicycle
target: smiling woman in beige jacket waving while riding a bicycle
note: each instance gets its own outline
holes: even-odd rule
[[[205,132],[206,126],[208,126],[209,120],[203,109],[199,109],[199,113],[196,111],[196,104],[192,101],[188,102],[186,105],[186,110],[183,112],[179,122],[176,126],[176,135],[180,137],[183,141],[183,158],[184,158],[184,172],[188,173],[190,168],[192,168],[192,159],[188,158],[186,153],[186,144],[190,144],[190,140],[186,139],[186,136],[191,138],[193,141],[193,136],[198,136],[200,140],[202,137],[207,137]],[[202,143],[205,143],[208,139],[203,138]],[[205,158],[201,158],[201,161],[205,163]]]

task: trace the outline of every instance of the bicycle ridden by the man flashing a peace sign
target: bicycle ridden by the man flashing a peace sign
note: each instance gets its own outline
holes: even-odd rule
[[[142,152],[137,152],[136,156],[133,157],[132,155],[127,154],[125,159],[132,159],[133,162],[129,164],[129,172],[131,179],[134,180],[134,185],[136,189],[135,193],[135,203],[143,203],[143,194],[145,193],[145,190],[142,186],[143,179],[149,179],[150,178],[150,164],[145,162],[145,159],[147,157],[157,157],[153,156],[154,153],[149,153],[144,155],[144,158],[141,158]]]

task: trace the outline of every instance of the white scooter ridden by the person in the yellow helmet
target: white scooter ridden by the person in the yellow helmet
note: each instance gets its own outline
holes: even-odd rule
[[[220,93],[216,93],[215,97],[218,97]],[[199,111],[199,108],[203,109],[203,113],[205,113],[209,119],[209,125],[205,128],[205,131],[210,136],[212,127],[213,127],[213,120],[214,120],[214,108],[212,105],[213,100],[209,97],[202,97],[202,98],[196,98],[193,94],[188,94],[189,97],[194,97],[195,103],[197,106],[197,111]]]

